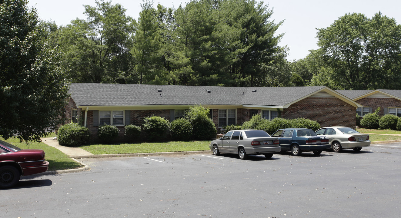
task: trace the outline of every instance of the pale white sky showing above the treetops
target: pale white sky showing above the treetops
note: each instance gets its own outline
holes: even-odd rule
[[[119,3],[127,9],[126,15],[137,19],[141,11],[142,0],[113,0],[112,4]],[[188,0],[154,0],[165,7],[178,7]],[[75,18],[85,19],[83,5],[95,6],[95,0],[30,0],[28,5],[38,9],[42,20],[54,20],[58,25],[67,25]],[[269,0],[265,1],[269,8],[273,8],[271,20],[284,20],[277,34],[285,32],[280,46],[290,48],[287,59],[289,61],[303,59],[310,49],[317,49],[316,29],[330,26],[338,17],[348,13],[363,13],[371,18],[381,11],[383,15],[395,18],[401,22],[400,0]]]

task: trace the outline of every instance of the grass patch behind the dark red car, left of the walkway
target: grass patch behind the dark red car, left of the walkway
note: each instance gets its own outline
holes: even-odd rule
[[[53,171],[53,170],[67,170],[67,169],[75,169],[79,168],[82,165],[80,163],[75,162],[73,159],[71,159],[68,155],[65,153],[61,152],[59,149],[56,149],[54,147],[51,147],[49,145],[46,145],[43,142],[31,142],[29,145],[26,145],[24,142],[20,142],[19,139],[17,138],[10,138],[7,140],[4,140],[3,138],[0,138],[3,141],[6,141],[10,144],[13,144],[21,149],[42,149],[46,153],[46,161],[49,161],[49,170],[48,171]]]

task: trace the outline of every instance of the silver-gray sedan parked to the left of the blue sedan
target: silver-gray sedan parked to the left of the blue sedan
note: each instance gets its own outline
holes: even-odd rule
[[[209,147],[214,155],[237,153],[240,159],[246,159],[248,154],[263,154],[271,158],[273,153],[281,150],[277,137],[255,129],[228,131],[223,137],[211,141]]]

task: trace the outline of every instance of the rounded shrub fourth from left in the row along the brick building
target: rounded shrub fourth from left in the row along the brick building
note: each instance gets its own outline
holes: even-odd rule
[[[145,123],[142,124],[142,130],[145,131],[146,137],[151,141],[163,141],[166,139],[169,121],[164,117],[152,115],[144,118]]]

